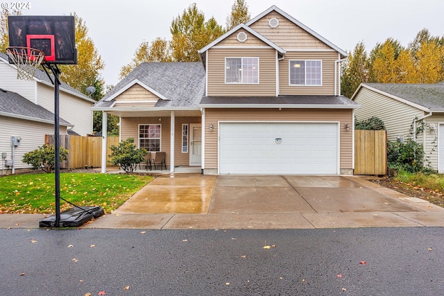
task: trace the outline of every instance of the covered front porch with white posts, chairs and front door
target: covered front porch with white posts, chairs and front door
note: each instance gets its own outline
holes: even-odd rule
[[[137,166],[140,173],[175,173],[187,168],[185,171],[201,173],[203,170],[203,116],[200,110],[107,110],[102,111],[103,127],[108,124],[108,114],[119,116],[119,141],[128,138],[135,139],[137,148],[145,148],[150,153],[150,158],[155,159],[158,152],[165,153],[167,169],[160,170],[160,164],[156,168]],[[106,172],[107,133],[102,130],[103,145],[101,172]]]

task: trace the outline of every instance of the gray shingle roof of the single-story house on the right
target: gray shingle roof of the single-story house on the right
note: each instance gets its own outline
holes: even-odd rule
[[[407,84],[407,83],[365,83],[382,92],[398,96],[432,110],[444,110],[444,83]]]

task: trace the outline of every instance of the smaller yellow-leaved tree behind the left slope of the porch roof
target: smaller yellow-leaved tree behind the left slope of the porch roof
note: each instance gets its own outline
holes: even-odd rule
[[[134,53],[133,60],[129,64],[121,67],[119,79],[127,76],[142,62],[171,62],[169,42],[157,37],[153,42],[142,42]]]

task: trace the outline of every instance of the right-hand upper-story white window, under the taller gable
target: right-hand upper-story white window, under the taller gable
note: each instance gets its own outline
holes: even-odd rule
[[[290,60],[290,85],[322,85],[321,60]]]

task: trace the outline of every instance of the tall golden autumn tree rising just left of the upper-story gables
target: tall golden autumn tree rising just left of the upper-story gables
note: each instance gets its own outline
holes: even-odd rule
[[[198,50],[225,33],[214,17],[205,21],[205,15],[198,10],[196,3],[173,19],[170,32],[171,55],[177,62],[199,61]]]

